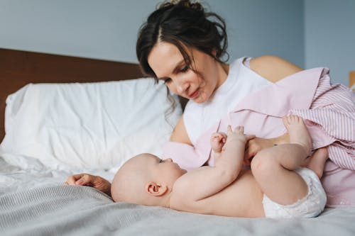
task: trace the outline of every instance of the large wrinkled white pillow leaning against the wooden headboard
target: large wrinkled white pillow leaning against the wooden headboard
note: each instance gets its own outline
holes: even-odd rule
[[[28,84],[6,99],[0,150],[54,169],[111,169],[141,152],[160,155],[182,113],[179,105],[165,117],[166,91],[151,78]]]

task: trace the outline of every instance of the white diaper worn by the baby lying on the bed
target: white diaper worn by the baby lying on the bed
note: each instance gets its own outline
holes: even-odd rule
[[[266,218],[311,218],[320,215],[324,210],[327,196],[320,179],[315,172],[307,168],[296,169],[295,172],[305,180],[308,186],[307,195],[291,205],[280,205],[263,196],[263,208]]]

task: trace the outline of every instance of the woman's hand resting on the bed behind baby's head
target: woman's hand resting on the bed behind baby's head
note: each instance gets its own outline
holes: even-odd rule
[[[94,176],[84,173],[73,174],[67,178],[67,181],[64,184],[91,186],[111,196],[111,183],[101,176]]]

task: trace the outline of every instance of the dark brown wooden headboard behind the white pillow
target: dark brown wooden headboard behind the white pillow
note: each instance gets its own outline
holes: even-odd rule
[[[0,48],[0,140],[6,97],[28,83],[106,82],[142,77],[138,64]]]

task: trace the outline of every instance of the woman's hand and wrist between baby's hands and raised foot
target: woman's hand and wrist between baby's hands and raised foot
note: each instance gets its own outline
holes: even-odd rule
[[[275,137],[270,139],[254,137],[253,139],[249,140],[246,143],[246,150],[244,152],[244,164],[250,165],[251,159],[253,159],[253,157],[263,149],[266,149],[268,147],[273,147],[275,145],[289,143],[289,142],[290,139],[287,133],[281,135],[280,137]]]

